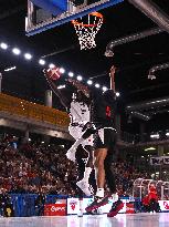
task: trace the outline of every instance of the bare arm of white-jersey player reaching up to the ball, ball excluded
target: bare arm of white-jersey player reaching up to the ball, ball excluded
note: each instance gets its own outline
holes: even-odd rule
[[[51,73],[49,73],[47,70],[43,70],[43,73],[54,94],[60,99],[62,105],[67,109],[70,105],[70,100],[63,94],[63,92],[61,92],[61,90],[57,89],[57,85],[54,83]],[[54,80],[56,81],[59,79],[60,76],[57,79],[55,78]]]

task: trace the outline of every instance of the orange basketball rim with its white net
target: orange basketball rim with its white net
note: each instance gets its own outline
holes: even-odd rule
[[[103,24],[103,14],[92,12],[88,14],[88,23],[72,21],[78,37],[81,50],[87,50],[96,47],[95,37]]]

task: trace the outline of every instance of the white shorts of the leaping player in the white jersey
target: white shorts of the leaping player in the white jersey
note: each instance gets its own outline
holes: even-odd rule
[[[84,125],[78,125],[78,126],[72,126],[70,125],[68,126],[68,131],[70,131],[70,134],[75,138],[75,141],[80,137],[82,137],[82,135],[84,134],[84,131],[83,131],[83,127]],[[94,136],[91,135],[88,138],[86,138],[83,143],[82,143],[82,146],[85,147],[85,146],[93,146],[94,145]]]

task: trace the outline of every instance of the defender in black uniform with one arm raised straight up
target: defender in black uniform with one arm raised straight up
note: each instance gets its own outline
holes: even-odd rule
[[[115,68],[110,69],[110,90],[103,94],[93,94],[93,113],[92,121],[97,128],[97,137],[95,143],[95,172],[97,182],[97,192],[94,202],[86,207],[86,211],[97,209],[108,203],[108,196],[104,194],[105,178],[114,198],[114,204],[108,217],[114,217],[123,208],[122,200],[118,199],[116,193],[115,178],[112,172],[112,157],[116,146],[116,130],[115,130],[115,114],[116,114],[116,94],[115,94]]]

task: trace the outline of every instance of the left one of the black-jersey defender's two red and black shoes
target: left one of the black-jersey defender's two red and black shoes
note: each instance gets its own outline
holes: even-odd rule
[[[95,197],[94,202],[89,206],[87,206],[85,209],[87,213],[91,213],[99,208],[101,206],[105,206],[106,204],[108,204],[108,196],[105,196],[103,198]]]

